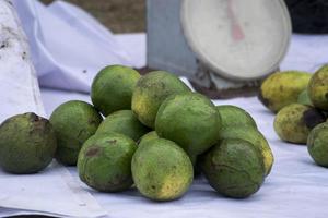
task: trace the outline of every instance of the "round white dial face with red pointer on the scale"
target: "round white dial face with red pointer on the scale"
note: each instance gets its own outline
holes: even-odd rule
[[[200,61],[232,80],[257,80],[277,70],[291,37],[281,0],[183,0],[181,24]]]

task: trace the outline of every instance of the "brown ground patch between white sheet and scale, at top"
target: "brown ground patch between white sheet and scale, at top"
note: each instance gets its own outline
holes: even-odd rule
[[[42,0],[51,3],[54,0]],[[94,15],[114,33],[145,31],[145,0],[66,0]]]

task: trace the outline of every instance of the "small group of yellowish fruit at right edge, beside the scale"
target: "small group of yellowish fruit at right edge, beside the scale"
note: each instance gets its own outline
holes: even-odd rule
[[[259,99],[277,112],[273,125],[281,140],[307,144],[315,162],[328,167],[328,65],[314,74],[274,73],[262,83]]]

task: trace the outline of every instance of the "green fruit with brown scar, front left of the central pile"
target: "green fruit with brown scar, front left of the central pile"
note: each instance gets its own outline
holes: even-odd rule
[[[137,144],[119,133],[91,136],[78,159],[80,179],[99,192],[120,192],[132,184],[131,159]]]

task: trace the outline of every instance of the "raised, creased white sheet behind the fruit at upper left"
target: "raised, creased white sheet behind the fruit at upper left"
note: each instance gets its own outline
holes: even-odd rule
[[[49,7],[35,0],[13,2],[42,86],[89,92],[105,65],[138,66],[115,36],[81,9],[63,1]]]

